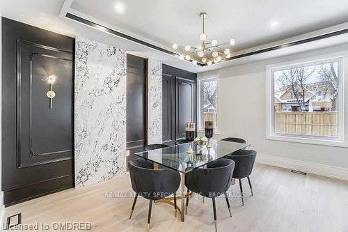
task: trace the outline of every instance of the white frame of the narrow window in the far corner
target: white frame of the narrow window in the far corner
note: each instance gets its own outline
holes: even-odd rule
[[[198,84],[198,88],[197,88],[197,99],[198,99],[198,104],[197,104],[197,117],[198,117],[198,125],[197,125],[197,130],[198,132],[204,132],[204,125],[203,127],[201,127],[200,125],[200,83],[201,82],[206,82],[209,80],[216,80],[217,82],[217,90],[216,90],[216,95],[217,95],[217,118],[216,118],[216,129],[214,129],[214,134],[219,134],[220,133],[220,113],[219,113],[219,109],[220,109],[220,101],[219,101],[219,75],[212,75],[212,76],[205,76],[205,77],[198,77],[197,78],[197,84]]]

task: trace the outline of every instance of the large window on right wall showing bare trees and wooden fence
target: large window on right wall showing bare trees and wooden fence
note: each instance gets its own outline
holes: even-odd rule
[[[267,70],[269,139],[342,142],[341,59]]]

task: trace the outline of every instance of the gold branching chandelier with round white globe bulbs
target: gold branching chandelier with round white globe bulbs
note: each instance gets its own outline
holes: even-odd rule
[[[219,63],[223,59],[228,59],[231,57],[231,52],[229,48],[223,49],[226,45],[235,45],[235,40],[230,39],[229,42],[221,43],[218,45],[217,40],[207,40],[207,34],[205,33],[205,18],[207,13],[201,12],[199,16],[202,18],[202,33],[200,33],[199,38],[202,42],[201,45],[197,47],[191,47],[190,45],[183,46],[185,54],[180,54],[179,59],[191,61],[193,64],[197,64],[199,59],[201,63],[212,65],[212,63]],[[173,49],[178,49],[179,45],[173,44]]]

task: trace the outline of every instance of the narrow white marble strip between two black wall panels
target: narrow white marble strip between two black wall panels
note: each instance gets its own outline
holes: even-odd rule
[[[148,59],[148,144],[162,143],[162,63]]]

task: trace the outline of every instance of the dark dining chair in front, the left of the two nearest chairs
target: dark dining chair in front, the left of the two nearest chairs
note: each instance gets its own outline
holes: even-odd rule
[[[173,169],[153,169],[153,163],[144,159],[131,160],[128,165],[132,188],[135,192],[129,219],[132,218],[136,199],[139,195],[149,200],[148,230],[150,230],[152,201],[164,199],[173,194],[176,217],[176,192],[180,185],[180,173]]]

